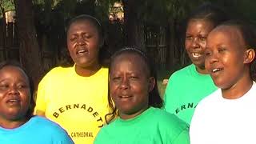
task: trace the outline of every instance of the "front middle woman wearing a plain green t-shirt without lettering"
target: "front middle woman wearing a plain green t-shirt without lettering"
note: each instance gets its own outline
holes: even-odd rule
[[[94,143],[190,143],[188,126],[162,107],[156,73],[141,50],[124,48],[111,58],[109,104]]]

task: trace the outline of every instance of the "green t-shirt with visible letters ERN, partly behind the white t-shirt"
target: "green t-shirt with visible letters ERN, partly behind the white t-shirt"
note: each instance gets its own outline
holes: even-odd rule
[[[170,76],[164,95],[165,110],[190,124],[198,102],[215,90],[210,74],[199,74],[191,64]]]

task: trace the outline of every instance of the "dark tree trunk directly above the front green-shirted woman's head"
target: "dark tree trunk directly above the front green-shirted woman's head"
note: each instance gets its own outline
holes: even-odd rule
[[[142,20],[138,18],[138,2],[136,2],[136,0],[123,0],[123,5],[126,45],[146,50],[144,27]]]

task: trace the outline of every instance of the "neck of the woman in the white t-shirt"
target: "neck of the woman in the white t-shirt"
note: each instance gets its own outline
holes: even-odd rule
[[[222,89],[222,97],[226,99],[241,98],[250,90],[253,83],[254,82],[251,80],[250,76],[247,76],[247,78],[242,78],[230,88]]]

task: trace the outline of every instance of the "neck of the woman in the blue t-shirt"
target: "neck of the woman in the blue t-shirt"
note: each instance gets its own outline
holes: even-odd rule
[[[1,119],[0,120],[0,126],[2,126],[5,129],[14,129],[19,126],[22,126],[24,123],[26,123],[29,119],[23,118],[21,120],[7,120],[7,119]]]

